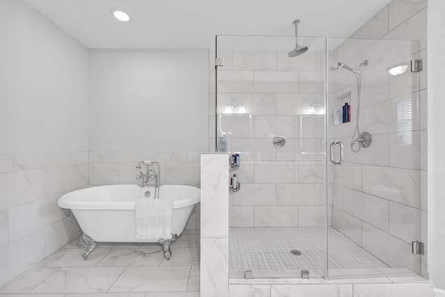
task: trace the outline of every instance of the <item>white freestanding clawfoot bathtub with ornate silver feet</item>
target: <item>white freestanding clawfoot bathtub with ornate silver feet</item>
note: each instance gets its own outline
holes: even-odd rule
[[[136,239],[134,205],[138,199],[153,199],[154,186],[135,184],[96,186],[72,191],[59,198],[58,206],[71,209],[79,223],[88,248],[82,252],[88,258],[97,242],[159,242],[164,257],[170,259],[170,243],[181,235],[194,205],[200,202],[200,188],[195,186],[159,186],[159,199],[173,200],[172,239],[147,241]]]

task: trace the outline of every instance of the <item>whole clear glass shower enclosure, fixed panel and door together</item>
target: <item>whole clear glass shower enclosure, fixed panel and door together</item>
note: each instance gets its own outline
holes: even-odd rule
[[[216,37],[211,143],[240,183],[229,278],[420,274],[419,74],[388,72],[416,42],[300,37],[289,58],[294,41]]]

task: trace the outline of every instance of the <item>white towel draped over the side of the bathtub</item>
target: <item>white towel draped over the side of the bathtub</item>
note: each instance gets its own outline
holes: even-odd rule
[[[137,239],[171,239],[173,201],[168,199],[139,199],[136,211]]]

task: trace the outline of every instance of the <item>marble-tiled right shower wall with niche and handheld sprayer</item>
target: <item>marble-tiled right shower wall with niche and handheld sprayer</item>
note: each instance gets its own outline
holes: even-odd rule
[[[373,143],[359,153],[350,150],[354,115],[350,123],[332,127],[330,135],[331,141],[345,144],[346,162],[330,166],[332,225],[389,266],[423,276],[426,255],[412,255],[410,243],[425,241],[427,233],[426,3],[391,1],[351,35],[364,39],[346,40],[333,52],[334,59],[348,65],[369,60],[362,70],[360,125],[373,134]],[[389,65],[411,58],[423,59],[422,72],[387,73]],[[354,109],[353,75],[340,70],[329,75],[330,104],[347,101]],[[403,110],[409,111],[407,118],[402,118]]]

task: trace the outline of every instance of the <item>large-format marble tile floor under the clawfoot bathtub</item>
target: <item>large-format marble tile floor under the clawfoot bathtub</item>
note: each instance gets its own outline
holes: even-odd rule
[[[0,287],[0,297],[199,297],[199,230],[172,243],[98,243],[83,261],[76,239]],[[19,294],[19,295],[15,295]]]

